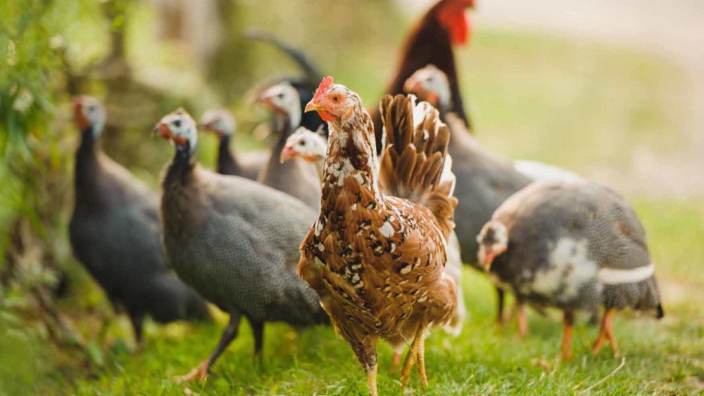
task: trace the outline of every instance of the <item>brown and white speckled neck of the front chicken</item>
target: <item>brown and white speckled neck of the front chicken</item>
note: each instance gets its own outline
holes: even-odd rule
[[[335,211],[337,196],[350,193],[351,185],[353,189],[374,194],[377,202],[383,204],[374,124],[369,113],[360,106],[349,120],[335,121],[328,126],[330,138],[322,175],[322,211]],[[348,177],[357,182],[345,183]]]

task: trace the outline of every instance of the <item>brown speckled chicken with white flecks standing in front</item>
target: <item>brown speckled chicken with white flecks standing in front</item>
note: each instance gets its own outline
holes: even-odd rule
[[[441,178],[448,129],[415,97],[386,96],[380,109],[389,144],[379,165],[372,118],[358,94],[327,77],[306,106],[327,121],[329,149],[320,216],[298,263],[364,367],[372,395],[377,340],[411,341],[401,383],[417,363],[427,385],[424,334],[447,323],[457,305],[455,283],[444,274],[457,204],[453,180]]]

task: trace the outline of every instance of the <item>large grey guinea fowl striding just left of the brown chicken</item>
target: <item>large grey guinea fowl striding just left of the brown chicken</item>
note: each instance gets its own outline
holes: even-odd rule
[[[230,315],[215,351],[180,379],[207,376],[237,337],[241,316],[252,326],[256,356],[265,322],[327,323],[318,296],[295,272],[296,247],[315,213],[283,192],[199,166],[196,123],[184,110],[162,118],[155,132],[176,145],[162,181],[165,252],[184,282]]]

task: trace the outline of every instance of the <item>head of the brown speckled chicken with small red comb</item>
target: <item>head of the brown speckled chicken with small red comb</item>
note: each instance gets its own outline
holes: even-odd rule
[[[325,121],[345,123],[355,113],[363,111],[363,106],[356,93],[344,85],[333,84],[332,77],[327,76],[315,90],[306,111],[318,111]]]

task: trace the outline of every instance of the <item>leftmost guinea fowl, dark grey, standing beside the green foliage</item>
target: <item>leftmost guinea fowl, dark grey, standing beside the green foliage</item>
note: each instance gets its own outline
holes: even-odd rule
[[[103,107],[93,97],[78,97],[73,106],[81,130],[69,227],[76,258],[113,306],[127,311],[137,342],[145,316],[161,323],[209,319],[203,299],[167,268],[157,195],[97,147]]]

